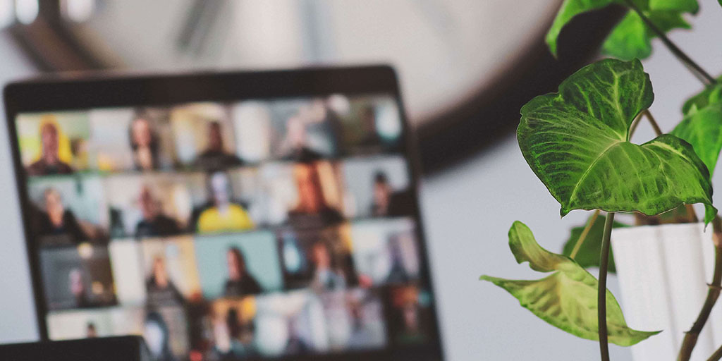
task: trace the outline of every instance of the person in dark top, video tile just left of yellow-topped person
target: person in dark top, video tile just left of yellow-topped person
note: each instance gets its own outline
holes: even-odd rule
[[[138,203],[143,219],[136,225],[136,238],[162,237],[181,233],[178,222],[162,213],[160,202],[155,199],[147,186],[141,189]]]

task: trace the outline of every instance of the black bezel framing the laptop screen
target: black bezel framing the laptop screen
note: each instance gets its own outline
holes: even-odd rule
[[[416,347],[391,347],[373,352],[344,352],[339,354],[284,357],[283,360],[443,360],[438,324],[436,297],[433,295],[432,275],[426,238],[419,212],[419,163],[417,146],[401,101],[396,72],[391,66],[353,66],[306,68],[275,71],[207,72],[192,74],[78,74],[52,78],[12,82],[4,88],[6,126],[12,151],[12,162],[27,256],[30,261],[32,289],[35,297],[35,318],[40,339],[48,341],[45,304],[40,273],[39,249],[30,239],[31,202],[27,194],[25,174],[17,139],[15,118],[19,113],[43,111],[86,110],[129,106],[164,106],[193,102],[230,103],[249,99],[282,97],[313,97],[320,95],[388,94],[396,97],[403,120],[403,155],[409,162],[413,189],[414,221],[419,232],[422,278],[432,293],[432,324],[430,339]]]

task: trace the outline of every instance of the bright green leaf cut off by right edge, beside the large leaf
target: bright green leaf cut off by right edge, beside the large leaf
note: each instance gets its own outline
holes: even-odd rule
[[[722,103],[708,105],[699,110],[697,105],[692,105],[684,120],[671,134],[692,144],[711,176],[722,150]]]

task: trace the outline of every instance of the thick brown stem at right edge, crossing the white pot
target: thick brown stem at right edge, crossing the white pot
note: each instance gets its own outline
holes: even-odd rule
[[[690,357],[692,357],[692,349],[695,349],[697,338],[705,327],[712,308],[720,296],[720,290],[722,290],[722,219],[719,216],[715,217],[712,221],[712,227],[712,239],[715,243],[715,270],[712,276],[712,283],[709,285],[707,299],[705,299],[705,304],[702,306],[702,310],[700,310],[700,316],[697,316],[697,321],[692,324],[692,329],[684,335],[682,348],[679,349],[679,356],[677,357],[678,361],[688,361]],[[719,360],[721,357],[722,347],[710,357],[710,360]]]

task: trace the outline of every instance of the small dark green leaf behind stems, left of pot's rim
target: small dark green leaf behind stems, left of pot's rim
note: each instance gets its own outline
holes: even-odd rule
[[[587,220],[587,223],[590,220],[591,217]],[[605,221],[606,217],[600,214],[598,217],[596,217],[594,224],[589,229],[586,238],[584,238],[584,243],[582,243],[579,251],[577,251],[576,256],[573,258],[574,261],[579,264],[579,266],[582,266],[586,269],[588,269],[589,267],[599,267],[599,259],[601,258],[601,236],[602,234],[604,234]],[[585,226],[586,225],[572,228],[572,232],[569,235],[567,242],[564,243],[564,251],[562,251],[562,254],[564,256],[570,256],[572,254],[574,246],[577,244],[579,236],[582,234]],[[627,225],[614,221],[614,223],[612,223],[612,227],[627,227]],[[611,273],[617,272],[617,269],[614,267],[614,254],[612,253],[611,249],[609,250],[609,265],[607,269]]]

